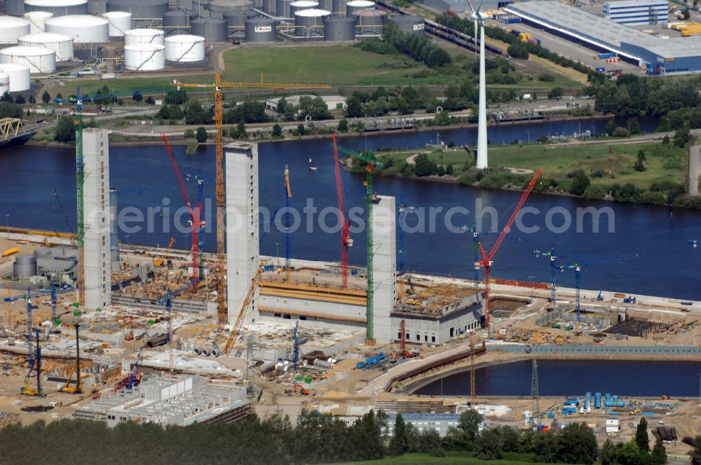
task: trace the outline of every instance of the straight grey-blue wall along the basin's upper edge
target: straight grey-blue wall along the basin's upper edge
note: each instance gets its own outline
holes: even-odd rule
[[[487,345],[488,352],[546,355],[692,355],[701,356],[697,346],[646,345]]]

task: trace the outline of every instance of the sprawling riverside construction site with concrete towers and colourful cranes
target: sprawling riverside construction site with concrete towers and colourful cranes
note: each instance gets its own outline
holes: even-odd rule
[[[404,270],[397,223],[406,207],[374,189],[374,153],[343,148],[334,137],[329,151],[336,162],[341,260],[294,259],[290,235],[284,256],[261,256],[257,144],[222,144],[222,88],[213,90],[215,253],[205,253],[200,241],[202,182],[198,200],[191,201],[165,136],[171,180],[189,214],[191,247],[174,249],[175,239],[167,247],[118,240],[107,131],[83,129],[78,105],[77,234],[9,225],[0,230],[0,422],[78,417],[109,426],[165,426],[234,422],[253,413],[294,420],[304,409],[353,422],[374,408],[437,415],[433,422],[449,424],[469,405],[489,422],[519,427],[585,415],[597,424],[600,438],[632,434],[623,419],[618,430],[609,430],[608,417],[622,414],[631,420],[666,415],[680,435],[692,433],[686,429],[697,424],[698,408],[690,398],[607,395],[601,401],[601,393],[573,392],[563,401],[538,395],[536,359],[694,361],[701,354],[701,303],[597,293],[579,284],[564,289],[556,271],[579,273],[586,263],[559,265],[554,250],[534,251],[550,262],[550,283],[490,276],[540,172],[489,250],[472,231],[474,279],[421,275]],[[365,167],[367,244],[355,247],[367,247],[368,259],[352,269],[341,181],[347,164],[339,153]],[[284,179],[289,207],[287,169]],[[283,216],[285,229],[290,216]],[[224,226],[225,218],[236,223],[235,230]],[[531,396],[477,396],[475,377],[482,367],[524,359],[533,359]],[[469,394],[412,394],[416,383],[456,370],[470,372]]]

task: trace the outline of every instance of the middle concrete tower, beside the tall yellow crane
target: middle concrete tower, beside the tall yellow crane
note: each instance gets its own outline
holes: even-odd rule
[[[236,321],[259,262],[258,144],[224,146],[226,175],[226,277],[229,322]],[[245,322],[259,317],[256,288]]]

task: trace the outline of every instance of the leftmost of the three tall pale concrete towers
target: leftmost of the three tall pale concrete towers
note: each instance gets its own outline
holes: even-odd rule
[[[105,307],[111,300],[109,215],[109,142],[107,131],[83,130],[83,210],[85,211],[86,306]]]

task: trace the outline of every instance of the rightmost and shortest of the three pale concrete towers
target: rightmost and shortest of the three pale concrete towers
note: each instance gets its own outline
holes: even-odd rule
[[[397,301],[397,209],[395,197],[377,198],[372,208],[374,337],[384,343],[393,340],[390,314]]]

